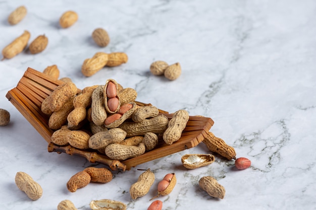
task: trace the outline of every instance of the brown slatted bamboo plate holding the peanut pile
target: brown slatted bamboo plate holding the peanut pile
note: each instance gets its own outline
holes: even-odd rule
[[[96,150],[80,150],[71,146],[58,146],[50,141],[51,134],[54,130],[51,130],[48,127],[49,116],[42,113],[40,107],[42,101],[62,83],[63,82],[51,79],[47,75],[32,68],[28,68],[17,87],[10,90],[6,97],[45,139],[48,143],[48,152],[82,156],[91,163],[108,165],[111,170],[130,170],[132,167],[139,164],[193,148],[203,141],[208,130],[214,124],[214,121],[211,118],[190,116],[189,121],[177,142],[172,145],[167,145],[164,140],[160,138],[159,144],[153,150],[145,152],[141,156],[121,162],[112,160],[107,156],[98,153]],[[151,104],[141,102],[136,102],[136,104],[140,106],[151,106]],[[160,110],[160,114],[164,114],[169,120],[172,118],[172,114],[169,114],[167,111]]]

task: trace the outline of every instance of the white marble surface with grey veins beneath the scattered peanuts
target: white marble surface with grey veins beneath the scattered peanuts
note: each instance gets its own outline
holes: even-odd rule
[[[20,5],[28,14],[11,26],[7,17]],[[79,20],[61,29],[58,20],[67,10],[76,11]],[[175,172],[173,192],[159,198],[163,209],[316,209],[315,11],[313,0],[1,1],[0,48],[24,30],[30,31],[30,40],[45,34],[49,43],[40,54],[22,52],[0,62],[0,108],[11,113],[10,124],[0,127],[0,208],[56,209],[69,199],[78,209],[90,209],[91,200],[109,198],[126,203],[127,209],[147,209],[158,181]],[[91,39],[97,27],[109,32],[105,48]],[[129,60],[85,78],[81,64],[97,51],[123,51]],[[151,75],[154,60],[180,62],[182,75],[175,81]],[[69,192],[69,178],[93,164],[48,153],[44,139],[5,97],[27,67],[43,71],[52,64],[79,88],[113,78],[135,88],[138,101],[211,117],[214,134],[252,166],[238,171],[234,161],[216,156],[212,165],[185,169],[182,155],[208,153],[200,144],[113,172],[110,183]],[[147,195],[133,201],[129,187],[141,173],[137,168],[152,169],[156,180]],[[16,187],[18,171],[40,183],[40,199],[32,201]],[[208,175],[226,188],[224,199],[199,188],[198,180]]]

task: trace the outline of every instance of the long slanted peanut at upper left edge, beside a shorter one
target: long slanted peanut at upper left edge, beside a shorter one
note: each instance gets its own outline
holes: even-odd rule
[[[31,34],[28,31],[24,31],[24,33],[13,40],[9,45],[7,45],[3,50],[3,59],[10,59],[19,54],[23,51],[23,49],[26,47]]]

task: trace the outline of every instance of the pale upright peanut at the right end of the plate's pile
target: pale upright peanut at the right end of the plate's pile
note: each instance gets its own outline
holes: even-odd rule
[[[173,114],[172,119],[168,122],[168,128],[164,132],[163,136],[166,144],[172,145],[180,139],[181,133],[188,120],[189,113],[184,109],[180,109]]]

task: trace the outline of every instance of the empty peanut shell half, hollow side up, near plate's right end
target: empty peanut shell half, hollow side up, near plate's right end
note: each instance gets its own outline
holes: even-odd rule
[[[186,154],[181,158],[182,165],[187,169],[207,166],[214,161],[215,157],[211,154]]]

